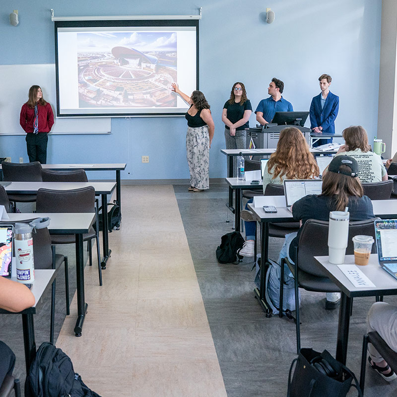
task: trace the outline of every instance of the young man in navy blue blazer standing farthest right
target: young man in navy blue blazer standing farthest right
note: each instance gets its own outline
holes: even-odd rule
[[[310,128],[314,132],[335,133],[335,119],[339,110],[339,97],[332,94],[330,85],[332,78],[329,74],[319,77],[321,93],[312,99],[310,104]],[[331,143],[331,139],[320,139],[313,146]]]

